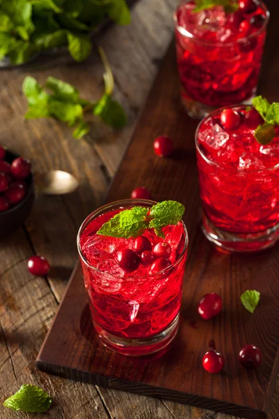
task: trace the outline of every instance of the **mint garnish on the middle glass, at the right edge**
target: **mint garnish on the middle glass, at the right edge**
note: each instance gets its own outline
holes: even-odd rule
[[[253,98],[252,104],[264,119],[264,124],[259,125],[255,131],[255,139],[259,144],[270,144],[276,136],[274,126],[279,125],[279,103],[269,103],[266,98],[256,96]]]

